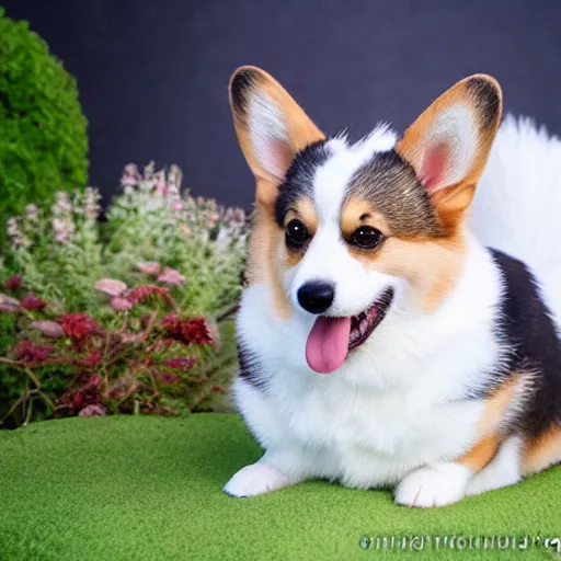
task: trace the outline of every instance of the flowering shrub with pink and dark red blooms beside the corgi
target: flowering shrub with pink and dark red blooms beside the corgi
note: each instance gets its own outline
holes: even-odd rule
[[[245,216],[140,174],[28,205],[0,263],[0,422],[214,409],[236,367]]]

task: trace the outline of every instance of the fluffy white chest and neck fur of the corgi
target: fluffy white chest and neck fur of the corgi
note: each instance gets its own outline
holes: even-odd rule
[[[238,327],[263,387],[238,379],[238,405],[285,472],[379,486],[419,466],[458,457],[473,444],[483,407],[466,400],[466,392],[496,363],[489,330],[499,290],[485,254],[476,253],[456,290],[461,294],[440,311],[419,318],[394,310],[340,370],[320,375],[305,359],[312,320],[272,320],[264,313],[266,287],[253,286]]]

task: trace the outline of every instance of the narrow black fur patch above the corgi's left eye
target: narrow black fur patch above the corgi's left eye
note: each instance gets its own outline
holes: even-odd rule
[[[288,168],[285,181],[278,186],[275,203],[275,218],[283,226],[286,213],[299,198],[313,198],[313,176],[316,170],[325,163],[330,156],[327,140],[318,140],[302,148]]]

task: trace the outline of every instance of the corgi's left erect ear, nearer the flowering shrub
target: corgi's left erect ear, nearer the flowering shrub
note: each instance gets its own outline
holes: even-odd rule
[[[325,136],[288,92],[260,68],[238,68],[229,92],[238,140],[256,179],[256,198],[271,204],[298,150]]]

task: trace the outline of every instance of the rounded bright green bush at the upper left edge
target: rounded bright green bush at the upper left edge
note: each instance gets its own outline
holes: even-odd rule
[[[75,79],[0,8],[0,242],[5,218],[26,203],[85,184],[85,130]]]

